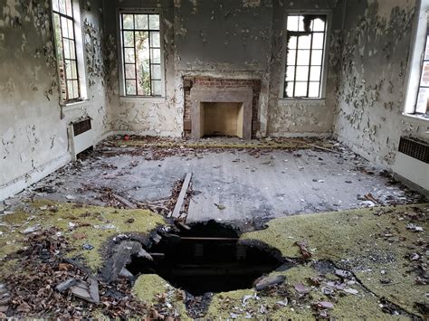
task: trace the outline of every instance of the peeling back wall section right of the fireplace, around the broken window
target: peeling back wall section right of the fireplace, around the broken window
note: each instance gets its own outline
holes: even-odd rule
[[[268,134],[270,136],[323,135],[332,132],[336,109],[335,90],[338,87],[338,61],[340,54],[340,28],[343,2],[327,1],[274,1],[272,56],[270,58],[270,100]],[[330,21],[327,42],[328,63],[325,99],[281,99],[282,61],[286,52],[286,17],[297,10],[324,11]]]

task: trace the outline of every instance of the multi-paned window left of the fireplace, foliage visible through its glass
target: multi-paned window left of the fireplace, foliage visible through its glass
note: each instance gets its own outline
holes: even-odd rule
[[[159,14],[120,14],[126,96],[161,96]]]

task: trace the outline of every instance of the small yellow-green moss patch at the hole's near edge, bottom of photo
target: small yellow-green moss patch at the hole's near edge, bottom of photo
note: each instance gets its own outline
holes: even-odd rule
[[[170,308],[176,310],[177,316],[182,320],[190,319],[186,316],[183,291],[173,288],[157,274],[139,276],[132,288],[132,293],[142,303],[171,305]]]

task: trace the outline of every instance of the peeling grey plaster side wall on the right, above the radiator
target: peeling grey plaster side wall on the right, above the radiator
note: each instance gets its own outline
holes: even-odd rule
[[[401,135],[428,140],[401,117],[414,23],[415,0],[347,1],[335,133],[387,167]]]

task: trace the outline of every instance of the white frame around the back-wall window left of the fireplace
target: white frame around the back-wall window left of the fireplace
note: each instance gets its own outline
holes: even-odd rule
[[[158,14],[159,16],[159,51],[160,51],[160,70],[161,70],[161,93],[160,95],[129,95],[126,93],[126,78],[125,78],[125,60],[123,44],[123,30],[121,29],[122,14]],[[119,97],[121,99],[141,100],[141,99],[164,99],[166,97],[166,78],[165,78],[165,58],[164,58],[164,26],[162,23],[163,15],[156,8],[118,8],[116,10],[117,21],[117,37],[118,37],[118,62],[119,62]],[[150,47],[149,47],[150,50]],[[150,72],[152,72],[149,69]],[[152,79],[151,79],[152,80]]]

